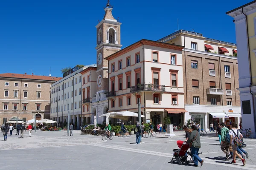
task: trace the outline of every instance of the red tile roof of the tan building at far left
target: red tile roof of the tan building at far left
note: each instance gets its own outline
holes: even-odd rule
[[[16,74],[16,73],[4,73],[4,74],[0,74],[0,77],[16,78],[16,79],[48,80],[48,81],[55,81],[55,82],[61,79],[61,77],[36,76],[31,74]]]

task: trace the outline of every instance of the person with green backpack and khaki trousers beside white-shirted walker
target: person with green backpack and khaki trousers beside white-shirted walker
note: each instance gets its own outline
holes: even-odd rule
[[[229,129],[226,127],[224,123],[221,123],[221,150],[226,153],[226,159],[230,159],[230,152],[229,146],[230,146],[230,136],[229,136]]]

